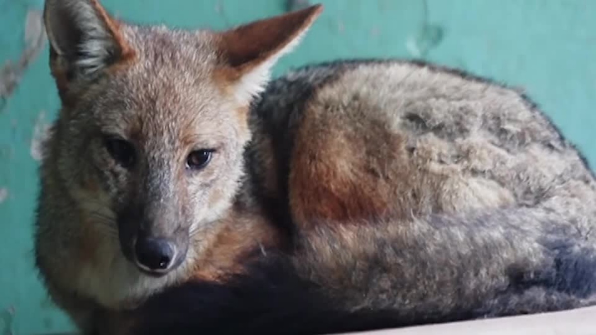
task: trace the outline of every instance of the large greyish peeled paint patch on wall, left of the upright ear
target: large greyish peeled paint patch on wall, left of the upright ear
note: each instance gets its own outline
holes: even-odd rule
[[[0,67],[0,110],[13,94],[29,64],[38,57],[45,45],[45,29],[42,12],[31,9],[25,18],[25,49],[16,63],[7,60]]]

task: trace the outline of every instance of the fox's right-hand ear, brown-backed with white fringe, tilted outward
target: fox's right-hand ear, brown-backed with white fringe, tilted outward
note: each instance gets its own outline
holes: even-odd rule
[[[216,33],[222,63],[217,73],[239,103],[250,103],[263,91],[271,68],[299,44],[322,10],[322,5],[313,5]]]

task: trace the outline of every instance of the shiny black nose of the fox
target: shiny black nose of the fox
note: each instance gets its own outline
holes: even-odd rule
[[[175,246],[164,238],[141,238],[136,241],[136,262],[146,271],[165,271],[172,264],[175,253]]]

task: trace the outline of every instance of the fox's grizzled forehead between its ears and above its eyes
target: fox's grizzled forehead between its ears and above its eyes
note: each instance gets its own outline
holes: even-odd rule
[[[235,124],[242,121],[237,119],[239,107],[218,82],[208,33],[165,27],[123,30],[136,54],[97,88],[94,114],[100,127],[111,128],[104,131],[207,141],[240,126]]]

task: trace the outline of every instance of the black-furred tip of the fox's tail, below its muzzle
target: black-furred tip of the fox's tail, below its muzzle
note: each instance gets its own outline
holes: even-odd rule
[[[270,254],[253,263],[249,275],[225,284],[185,283],[154,296],[138,311],[134,334],[328,334],[471,317],[411,318],[339,306],[300,278],[285,256]]]

